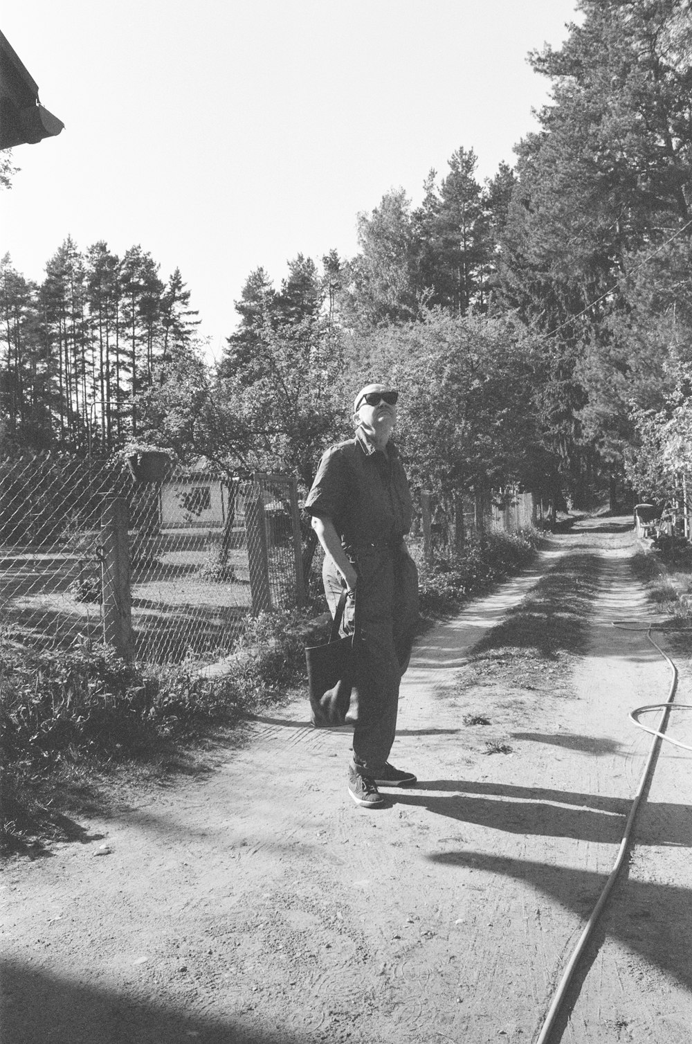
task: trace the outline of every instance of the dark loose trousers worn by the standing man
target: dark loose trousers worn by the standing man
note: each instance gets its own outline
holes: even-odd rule
[[[388,760],[397,731],[399,684],[408,667],[417,623],[417,571],[413,561],[388,548],[354,554],[358,572],[356,611],[359,643],[350,718],[354,718],[353,759],[364,776]],[[325,593],[332,616],[342,582],[325,557]],[[347,604],[342,633],[353,631],[354,608]]]

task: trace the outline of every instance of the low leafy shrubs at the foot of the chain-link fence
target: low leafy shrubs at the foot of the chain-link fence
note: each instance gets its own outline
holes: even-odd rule
[[[305,669],[293,610],[250,619],[223,677],[197,666],[133,665],[105,646],[0,654],[0,744],[5,761],[52,763],[79,751],[122,757],[156,735],[231,719],[278,699]]]

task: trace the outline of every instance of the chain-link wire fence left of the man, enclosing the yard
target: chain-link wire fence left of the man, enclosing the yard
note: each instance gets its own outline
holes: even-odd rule
[[[138,660],[221,657],[249,613],[302,600],[293,478],[138,464],[0,460],[0,641],[108,640],[115,613]]]

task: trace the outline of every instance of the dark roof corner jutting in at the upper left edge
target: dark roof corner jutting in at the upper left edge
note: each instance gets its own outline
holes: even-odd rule
[[[34,145],[65,124],[39,102],[39,88],[0,32],[0,149]]]

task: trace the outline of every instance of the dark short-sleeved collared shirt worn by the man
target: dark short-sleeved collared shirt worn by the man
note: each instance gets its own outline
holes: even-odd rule
[[[323,456],[305,502],[329,516],[345,546],[400,540],[413,514],[406,472],[393,443],[376,451],[360,431]]]

